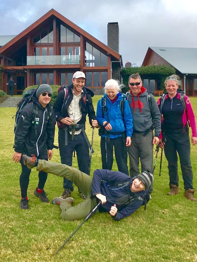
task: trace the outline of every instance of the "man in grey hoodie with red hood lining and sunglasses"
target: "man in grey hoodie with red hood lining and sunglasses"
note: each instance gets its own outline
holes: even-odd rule
[[[130,75],[128,85],[130,92],[127,100],[133,117],[133,134],[131,146],[127,149],[130,176],[134,177],[140,173],[139,158],[142,172],[153,171],[153,145],[159,144],[161,115],[154,96],[147,94],[147,89],[142,86],[139,73]],[[154,135],[153,130],[155,130]]]

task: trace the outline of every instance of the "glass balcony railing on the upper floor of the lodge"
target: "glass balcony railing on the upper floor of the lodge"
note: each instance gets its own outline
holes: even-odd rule
[[[27,65],[73,65],[80,64],[80,55],[27,56]]]

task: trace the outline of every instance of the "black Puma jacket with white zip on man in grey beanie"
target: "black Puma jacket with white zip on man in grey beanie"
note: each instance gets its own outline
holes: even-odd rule
[[[50,104],[46,108],[42,107],[37,97],[33,97],[33,102],[38,107],[34,118],[33,103],[28,103],[20,111],[15,132],[14,150],[28,156],[33,154],[38,157],[47,155],[47,150],[54,148],[55,114],[52,111],[49,117]]]

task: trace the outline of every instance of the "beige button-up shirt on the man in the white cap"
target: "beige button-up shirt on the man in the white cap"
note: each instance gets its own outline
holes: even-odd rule
[[[68,106],[67,110],[68,110],[69,117],[74,120],[73,121],[74,124],[79,122],[79,120],[81,120],[82,118],[82,112],[81,112],[81,107],[79,105],[79,100],[81,99],[83,92],[84,91],[81,89],[81,92],[79,93],[79,95],[76,95],[72,89],[73,99],[70,105]],[[80,134],[81,130],[82,129],[75,131],[75,135]],[[72,134],[71,131],[69,131],[69,133]]]

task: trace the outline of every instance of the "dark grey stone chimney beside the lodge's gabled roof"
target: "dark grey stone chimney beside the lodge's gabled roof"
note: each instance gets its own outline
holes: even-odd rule
[[[118,22],[107,25],[107,45],[119,53],[119,26]]]

